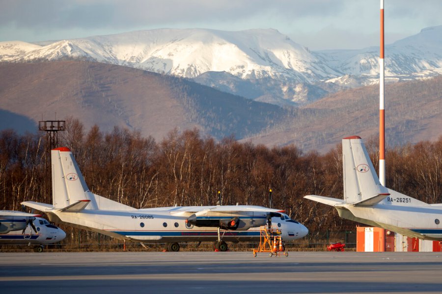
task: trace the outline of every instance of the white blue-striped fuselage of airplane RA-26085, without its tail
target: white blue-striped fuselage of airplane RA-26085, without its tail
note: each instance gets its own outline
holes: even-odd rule
[[[172,213],[171,213],[172,212]],[[266,214],[242,212],[238,217],[237,229],[221,229],[222,240],[227,242],[259,241],[259,227],[267,223]],[[198,217],[198,216],[197,216]],[[81,212],[52,212],[50,221],[61,221],[79,228],[93,230],[117,239],[139,242],[208,242],[218,240],[218,227],[196,226],[186,222],[188,215],[173,213],[171,210],[139,209],[133,211],[88,210]],[[219,214],[201,216],[203,220],[232,216]],[[243,223],[243,228],[241,228]],[[253,227],[250,227],[253,225]],[[285,214],[272,218],[272,226],[282,230],[282,239],[290,241],[304,237],[308,230],[297,221],[290,220]]]

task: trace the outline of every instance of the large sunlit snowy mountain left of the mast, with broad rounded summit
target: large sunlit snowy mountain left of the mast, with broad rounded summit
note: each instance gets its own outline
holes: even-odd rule
[[[6,46],[20,48],[18,54],[3,54]],[[313,82],[336,74],[274,29],[155,29],[63,40],[38,48],[2,42],[0,48],[3,61],[86,58],[188,78],[225,71],[240,78],[286,76]]]

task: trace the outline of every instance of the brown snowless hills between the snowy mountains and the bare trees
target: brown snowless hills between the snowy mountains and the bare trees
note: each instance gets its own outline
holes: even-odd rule
[[[14,128],[32,119],[69,116],[90,128],[138,130],[161,141],[169,131],[197,128],[221,140],[294,144],[327,152],[341,138],[378,134],[379,88],[341,91],[309,105],[279,107],[222,93],[185,78],[88,61],[0,63],[1,112]],[[386,85],[387,146],[442,135],[442,76]],[[11,124],[0,120],[0,129]],[[34,125],[30,123],[31,127]],[[35,129],[28,129],[35,132]]]

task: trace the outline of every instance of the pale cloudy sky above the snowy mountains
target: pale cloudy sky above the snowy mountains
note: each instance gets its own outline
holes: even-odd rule
[[[380,0],[0,0],[0,42],[156,28],[274,28],[311,50],[379,46]],[[385,0],[385,42],[442,25],[442,0]]]

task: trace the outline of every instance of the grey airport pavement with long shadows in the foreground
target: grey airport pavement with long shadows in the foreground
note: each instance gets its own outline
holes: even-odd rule
[[[442,252],[0,253],[1,293],[441,293]]]

